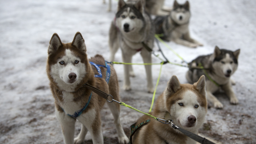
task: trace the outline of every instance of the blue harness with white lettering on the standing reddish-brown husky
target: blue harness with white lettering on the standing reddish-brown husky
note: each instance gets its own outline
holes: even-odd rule
[[[105,66],[104,65],[99,65],[99,64],[95,64],[93,62],[90,62],[91,65],[94,65],[95,68],[97,69],[98,71],[98,75],[94,75],[94,77],[96,78],[102,78],[102,73],[101,73],[101,69],[99,68],[99,66],[102,66],[104,68],[107,68],[107,76],[106,76],[106,82],[108,83],[109,79],[110,79],[110,66],[107,64],[107,62],[105,62]],[[91,95],[92,95],[92,92],[91,92]],[[89,105],[89,102],[91,100],[91,95],[89,97],[89,100],[88,102],[85,104],[85,106],[79,110],[79,111],[76,111],[73,115],[70,115],[70,114],[67,114],[68,116],[70,117],[73,117],[73,118],[77,118],[78,116],[80,116],[80,114],[82,114],[82,112],[86,109],[86,107]],[[63,108],[62,108],[63,110]],[[63,110],[64,111],[64,110]],[[65,112],[65,111],[64,111]]]

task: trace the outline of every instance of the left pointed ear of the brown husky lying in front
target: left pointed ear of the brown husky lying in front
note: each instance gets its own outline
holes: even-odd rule
[[[177,92],[177,90],[180,88],[181,88],[180,81],[178,80],[176,75],[173,75],[167,83],[165,94],[172,95],[175,92]]]

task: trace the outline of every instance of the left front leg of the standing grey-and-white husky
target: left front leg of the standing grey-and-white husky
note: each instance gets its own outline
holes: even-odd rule
[[[132,55],[128,53],[122,52],[123,62],[124,63],[132,63]],[[130,65],[125,64],[124,65],[124,84],[123,84],[123,90],[131,90],[130,87],[130,78],[129,78],[129,71],[130,71]]]

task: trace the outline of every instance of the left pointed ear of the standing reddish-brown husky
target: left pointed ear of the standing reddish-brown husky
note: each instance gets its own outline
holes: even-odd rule
[[[50,45],[48,47],[48,54],[56,52],[60,46],[62,46],[62,42],[60,41],[58,34],[54,33],[50,40]]]

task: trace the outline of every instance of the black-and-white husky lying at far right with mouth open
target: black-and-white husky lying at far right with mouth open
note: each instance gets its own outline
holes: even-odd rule
[[[219,49],[216,46],[213,54],[199,56],[189,64],[190,70],[188,70],[186,74],[188,82],[193,83],[197,81],[201,75],[206,75],[203,70],[191,68],[201,65],[206,69],[209,77],[219,85],[214,84],[214,82],[208,78],[206,79],[207,100],[213,103],[215,108],[223,108],[222,103],[213,95],[214,92],[219,90],[219,87],[228,95],[230,103],[238,103],[238,99],[231,87],[233,82],[230,76],[233,75],[238,68],[239,53],[240,49],[232,52],[226,49]]]

